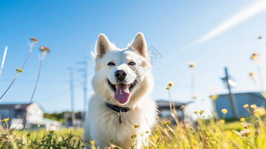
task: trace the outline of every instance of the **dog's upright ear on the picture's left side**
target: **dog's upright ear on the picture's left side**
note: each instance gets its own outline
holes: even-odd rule
[[[104,34],[100,34],[96,42],[96,57],[102,57],[110,47],[110,42]]]

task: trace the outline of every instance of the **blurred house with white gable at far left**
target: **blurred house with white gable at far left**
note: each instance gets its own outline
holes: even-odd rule
[[[0,104],[0,118],[9,118],[8,126],[14,128],[20,122],[23,117],[28,104]],[[40,124],[43,120],[44,111],[42,107],[37,103],[32,103],[24,117],[23,122],[17,126],[19,129],[23,129],[28,120],[28,127]]]

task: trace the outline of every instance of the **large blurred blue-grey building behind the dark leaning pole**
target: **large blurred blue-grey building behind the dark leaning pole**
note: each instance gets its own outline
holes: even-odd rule
[[[234,96],[237,105],[238,117],[250,116],[247,110],[243,107],[245,104],[256,104],[258,107],[266,107],[266,99],[260,92],[235,93]],[[214,102],[216,111],[221,118],[223,117],[221,110],[224,108],[228,110],[226,118],[234,117],[229,94],[219,95]]]

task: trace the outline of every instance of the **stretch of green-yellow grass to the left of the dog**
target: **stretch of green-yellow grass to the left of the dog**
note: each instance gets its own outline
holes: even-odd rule
[[[0,131],[0,149],[83,149],[83,129]]]

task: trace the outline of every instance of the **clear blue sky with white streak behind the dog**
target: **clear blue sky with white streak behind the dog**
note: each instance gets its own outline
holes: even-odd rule
[[[228,67],[237,82],[233,92],[261,91],[249,72],[257,73],[250,57],[254,52],[266,54],[266,3],[260,0],[176,0],[176,1],[89,1],[89,0],[1,0],[0,62],[8,45],[0,76],[2,94],[21,68],[27,55],[30,37],[37,45],[14,84],[1,103],[29,102],[40,65],[39,46],[48,53],[35,92],[34,101],[45,112],[70,110],[68,67],[82,69],[79,61],[88,61],[88,98],[93,92],[91,78],[94,62],[90,51],[100,33],[119,48],[125,48],[138,32],[143,32],[148,47],[153,46],[161,58],[154,60],[154,99],[168,99],[165,90],[172,80],[172,98],[191,101],[189,62],[195,62],[192,110],[210,111],[211,94],[227,93],[221,77]],[[265,74],[265,67],[261,67]],[[257,74],[258,76],[258,74]],[[75,110],[83,109],[83,73],[75,71]],[[258,77],[257,77],[258,78]],[[266,78],[263,79],[264,84]],[[255,80],[258,81],[259,80]],[[266,86],[266,85],[265,85]]]

